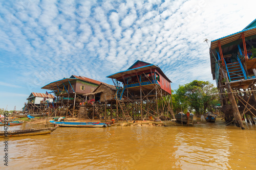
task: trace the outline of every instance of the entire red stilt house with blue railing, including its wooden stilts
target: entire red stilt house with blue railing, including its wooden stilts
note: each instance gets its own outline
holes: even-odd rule
[[[174,118],[166,100],[172,93],[171,81],[159,66],[138,60],[127,70],[107,77],[113,80],[117,89],[116,112],[119,113],[119,108],[126,120],[138,119],[138,116],[141,120],[156,115],[168,116],[168,113]]]

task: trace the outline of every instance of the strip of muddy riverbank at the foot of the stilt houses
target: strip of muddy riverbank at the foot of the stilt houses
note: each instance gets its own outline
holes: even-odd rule
[[[39,117],[35,117],[33,120],[24,117],[24,118],[17,118],[16,120],[22,120],[24,121],[24,123],[28,123],[28,124],[35,124],[35,125],[46,125],[46,124],[51,124],[49,122],[49,120],[52,120],[52,118],[49,118],[49,120],[47,121],[47,118],[39,118]],[[90,119],[84,119],[84,118],[67,118],[67,122],[100,122],[100,123],[104,123],[104,120],[101,119],[94,119],[94,120],[90,120]],[[106,120],[106,122],[112,122],[111,120]],[[201,120],[195,119],[194,120],[194,125],[195,124],[204,124],[206,122],[203,122]],[[186,124],[183,124],[186,125]],[[118,121],[115,122],[114,124],[112,124],[111,126],[138,126],[138,127],[146,127],[146,126],[182,126],[180,123],[177,123],[176,121],[161,121],[161,122],[153,122],[150,120],[136,120],[134,122],[134,120],[126,122],[126,121]],[[189,124],[189,126],[191,126],[191,124]]]

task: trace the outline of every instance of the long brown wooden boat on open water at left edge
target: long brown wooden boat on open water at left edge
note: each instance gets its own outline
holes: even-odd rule
[[[0,137],[14,137],[14,136],[33,136],[44,135],[53,132],[58,126],[52,128],[41,129],[28,129],[28,130],[13,130],[13,131],[0,131]],[[6,133],[5,133],[6,132]]]

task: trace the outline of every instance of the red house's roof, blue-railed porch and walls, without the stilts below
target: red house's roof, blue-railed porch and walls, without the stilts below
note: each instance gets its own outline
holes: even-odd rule
[[[117,72],[108,78],[115,79],[115,85],[119,83],[122,87],[118,88],[119,99],[123,98],[140,98],[141,88],[149,95],[156,95],[157,86],[162,94],[171,94],[171,81],[165,76],[159,66],[143,61],[136,61],[127,70]]]

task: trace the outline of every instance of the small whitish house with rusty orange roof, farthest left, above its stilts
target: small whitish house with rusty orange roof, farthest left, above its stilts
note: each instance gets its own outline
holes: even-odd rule
[[[27,101],[28,101],[28,103],[33,103],[33,104],[39,105],[40,102],[44,99],[45,99],[45,101],[53,102],[53,98],[54,98],[54,96],[52,94],[47,95],[45,93],[32,92],[29,95]]]

